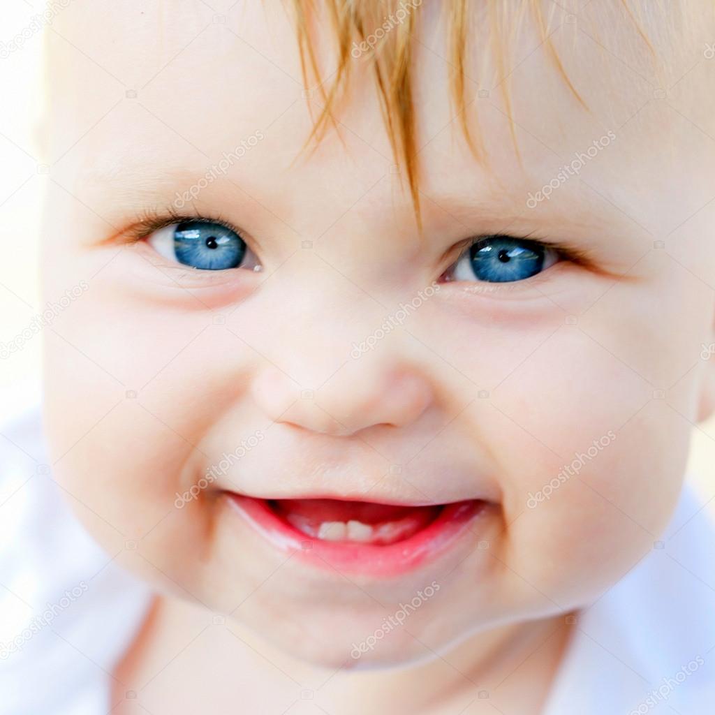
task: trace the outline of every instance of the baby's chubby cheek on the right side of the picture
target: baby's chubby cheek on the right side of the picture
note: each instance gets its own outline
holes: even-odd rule
[[[581,606],[659,539],[681,488],[689,421],[576,326],[490,400],[482,439],[503,475],[508,600]]]

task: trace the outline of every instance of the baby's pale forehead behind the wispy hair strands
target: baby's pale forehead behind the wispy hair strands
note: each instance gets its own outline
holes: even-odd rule
[[[655,14],[633,18],[616,12],[615,4],[609,13],[597,3],[572,13],[551,6],[546,40],[526,14],[511,19],[512,29],[520,28],[512,41],[508,19],[498,32],[488,21],[475,22],[465,94],[470,126],[478,127],[489,156],[476,162],[450,97],[447,14],[438,17],[435,6],[418,5],[412,11],[420,11],[423,29],[414,39],[413,87],[426,196],[438,192],[459,204],[471,194],[479,204],[513,194],[523,204],[528,192],[577,155],[590,164],[596,192],[616,178],[637,184],[639,177],[666,191],[668,174],[677,180],[678,167],[705,178],[715,165],[709,139],[715,115],[709,102],[707,111],[695,101],[715,71],[704,44],[694,44],[692,30],[678,29],[675,18],[666,27]],[[164,184],[169,190],[227,154],[240,159],[230,159],[230,175],[270,202],[281,200],[275,194],[285,187],[277,174],[287,167],[300,169],[306,187],[315,182],[313,189],[322,182],[335,190],[350,174],[355,196],[393,170],[360,44],[347,96],[337,106],[341,138],[330,134],[296,169],[311,112],[320,112],[324,98],[320,87],[303,85],[290,14],[260,2],[225,14],[193,2],[172,4],[170,12],[162,2],[142,7],[104,1],[82,11],[70,6],[50,32],[51,159],[59,157],[87,184],[123,187],[127,197]],[[368,34],[378,51],[395,21],[388,16],[373,39]],[[327,88],[335,66],[329,36],[321,29],[313,38]],[[504,66],[499,44],[511,57]],[[591,157],[594,142],[604,137],[608,145]],[[569,192],[583,193],[581,182],[572,183]]]

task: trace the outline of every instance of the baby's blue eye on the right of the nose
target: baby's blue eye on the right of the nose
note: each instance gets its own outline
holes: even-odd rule
[[[475,242],[455,265],[453,280],[507,283],[526,280],[558,260],[556,251],[536,241],[490,236]]]

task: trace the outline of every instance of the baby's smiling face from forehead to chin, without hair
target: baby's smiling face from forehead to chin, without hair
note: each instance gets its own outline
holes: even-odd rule
[[[709,404],[702,43],[663,85],[646,49],[616,59],[625,16],[556,9],[581,103],[527,23],[514,137],[468,61],[478,162],[419,12],[421,232],[359,45],[311,153],[280,6],[73,5],[50,38],[44,290],[87,285],[46,334],[56,478],[142,578],[322,664],[598,598],[659,538]]]

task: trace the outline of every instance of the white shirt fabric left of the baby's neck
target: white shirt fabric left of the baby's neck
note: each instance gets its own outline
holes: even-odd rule
[[[71,515],[42,445],[36,406],[0,426],[0,715],[106,715],[151,597]]]

